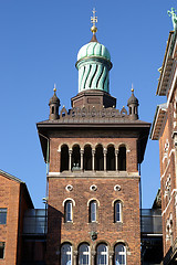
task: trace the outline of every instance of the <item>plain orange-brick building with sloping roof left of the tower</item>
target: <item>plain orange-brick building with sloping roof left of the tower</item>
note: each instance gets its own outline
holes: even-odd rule
[[[22,263],[24,212],[33,209],[29,191],[20,179],[0,170],[0,264]]]

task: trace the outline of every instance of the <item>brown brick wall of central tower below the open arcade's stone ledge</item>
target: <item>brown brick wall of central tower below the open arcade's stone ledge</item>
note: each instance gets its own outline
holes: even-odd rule
[[[67,184],[73,186],[73,191],[65,190]],[[97,191],[91,191],[92,184],[97,186]],[[119,184],[121,191],[114,191],[114,186]],[[64,223],[63,201],[71,198],[75,201],[73,206],[73,223]],[[90,199],[96,199],[98,206],[98,223],[88,223]],[[123,223],[114,223],[113,201],[123,202]],[[88,232],[97,231],[98,236],[92,242]],[[125,242],[128,254],[127,264],[140,264],[140,236],[139,236],[139,192],[138,178],[126,179],[49,179],[49,230],[48,230],[48,264],[56,265],[60,261],[60,245],[71,242],[74,250],[82,242],[88,242],[94,250],[98,242],[106,242],[108,250],[113,251],[116,242]]]

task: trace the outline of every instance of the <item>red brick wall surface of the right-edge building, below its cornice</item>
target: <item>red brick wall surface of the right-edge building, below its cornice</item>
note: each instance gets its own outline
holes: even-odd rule
[[[159,158],[160,158],[160,187],[162,187],[162,212],[163,212],[163,242],[164,255],[167,254],[171,246],[171,241],[167,239],[167,220],[173,215],[173,237],[177,236],[176,233],[176,210],[175,210],[175,195],[176,192],[176,173],[175,173],[175,149],[173,142],[174,129],[174,107],[170,103],[168,106],[167,120],[164,125],[163,132],[159,139]],[[165,144],[169,142],[168,148],[165,149]],[[170,177],[170,199],[166,195],[167,179]]]

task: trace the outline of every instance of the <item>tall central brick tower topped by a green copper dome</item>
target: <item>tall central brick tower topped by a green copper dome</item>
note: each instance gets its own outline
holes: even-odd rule
[[[139,173],[150,124],[110,94],[112,62],[93,38],[77,54],[79,94],[72,108],[50,99],[38,131],[48,172],[48,265],[139,265]]]

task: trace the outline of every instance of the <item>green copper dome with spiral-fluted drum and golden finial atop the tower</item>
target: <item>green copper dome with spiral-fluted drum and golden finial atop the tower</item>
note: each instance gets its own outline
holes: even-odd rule
[[[110,93],[110,70],[112,68],[108,50],[96,40],[97,17],[95,9],[91,22],[93,33],[90,43],[82,46],[77,53],[79,93],[85,89],[100,89]]]

